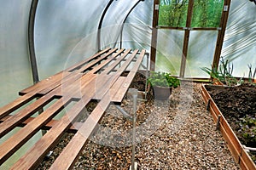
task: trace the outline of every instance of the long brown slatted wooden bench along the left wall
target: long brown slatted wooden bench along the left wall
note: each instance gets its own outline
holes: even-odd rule
[[[121,103],[143,61],[145,50],[107,48],[32,87],[20,91],[20,97],[0,108],[0,138],[15,127],[18,133],[0,145],[0,165],[41,129],[47,133],[22,156],[11,169],[34,169],[67,132],[75,133],[50,169],[69,169],[84,149],[90,135],[110,103]],[[129,73],[121,76],[124,71]],[[96,108],[85,122],[79,114],[93,99]],[[53,102],[54,101],[54,102]],[[53,118],[67,105],[74,105],[59,120]],[[53,104],[44,109],[50,102]],[[44,110],[43,110],[44,109]],[[15,114],[13,113],[15,111]],[[38,111],[36,117],[32,117]]]

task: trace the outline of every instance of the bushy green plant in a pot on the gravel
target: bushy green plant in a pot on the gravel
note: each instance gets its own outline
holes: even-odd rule
[[[172,77],[171,73],[150,72],[148,83],[154,90],[154,99],[168,99],[172,94],[172,88],[177,88],[180,81]]]

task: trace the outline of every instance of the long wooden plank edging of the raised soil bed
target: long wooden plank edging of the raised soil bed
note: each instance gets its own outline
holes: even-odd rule
[[[219,119],[219,130],[223,134],[225,141],[228,144],[232,156],[234,156],[236,162],[239,164],[241,169],[256,170],[256,166],[247,154],[247,151],[243,148],[241,142],[236,137],[236,134],[231,129],[229,123],[224,118],[218,106],[213,101],[210,94],[207,92],[205,85],[201,87],[201,95],[207,105],[207,110],[211,112],[214,122],[217,123]],[[219,118],[218,118],[219,117]]]

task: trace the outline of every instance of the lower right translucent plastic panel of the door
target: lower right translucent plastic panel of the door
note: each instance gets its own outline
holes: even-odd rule
[[[208,78],[202,67],[212,67],[218,31],[190,31],[185,77]]]

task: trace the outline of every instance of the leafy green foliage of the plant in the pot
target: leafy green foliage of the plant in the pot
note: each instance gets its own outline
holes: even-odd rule
[[[173,87],[177,88],[180,81],[176,77],[172,77],[170,73],[166,72],[150,72],[148,82],[151,86]]]

